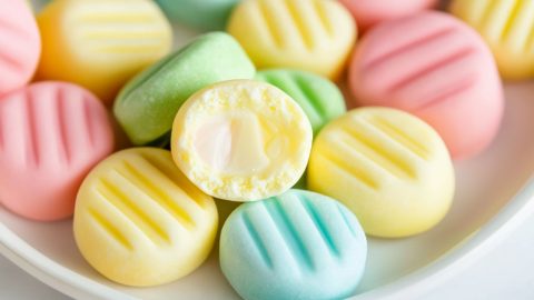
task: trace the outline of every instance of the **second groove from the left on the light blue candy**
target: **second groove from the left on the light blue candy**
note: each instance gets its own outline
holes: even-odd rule
[[[286,242],[289,252],[293,258],[310,270],[315,269],[314,261],[309,256],[304,241],[299,233],[295,229],[290,218],[287,216],[284,207],[281,207],[280,199],[270,198],[263,203],[267,209],[269,217],[273,220],[275,228],[280,233],[281,238]]]

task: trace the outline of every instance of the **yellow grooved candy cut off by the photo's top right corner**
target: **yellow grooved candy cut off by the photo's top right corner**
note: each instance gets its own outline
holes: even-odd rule
[[[534,1],[454,0],[451,11],[486,40],[505,79],[534,77]]]

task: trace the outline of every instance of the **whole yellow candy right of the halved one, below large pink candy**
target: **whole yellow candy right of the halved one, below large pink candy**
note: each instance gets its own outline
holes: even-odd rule
[[[454,187],[439,136],[399,110],[352,110],[327,124],[312,149],[308,188],[345,203],[372,236],[428,230],[448,211]]]

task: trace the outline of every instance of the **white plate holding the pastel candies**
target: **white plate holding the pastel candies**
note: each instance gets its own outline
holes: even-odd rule
[[[177,44],[192,32],[179,31]],[[457,192],[445,220],[408,239],[369,239],[369,257],[354,299],[411,299],[466,268],[534,211],[534,83],[507,84],[502,130],[479,157],[455,164]],[[481,113],[484,109],[481,108]],[[238,299],[217,263],[217,247],[190,276],[136,289],[112,283],[79,254],[71,221],[39,223],[0,207],[0,253],[44,283],[77,299]]]

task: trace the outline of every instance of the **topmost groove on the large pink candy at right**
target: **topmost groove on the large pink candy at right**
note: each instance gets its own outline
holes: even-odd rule
[[[411,51],[414,48],[418,48],[425,43],[435,42],[438,40],[443,40],[448,36],[456,33],[456,29],[452,27],[439,28],[432,33],[427,33],[422,37],[416,37],[411,41],[405,42],[404,44],[395,46],[396,48],[389,49],[389,51],[385,52],[384,54],[374,58],[369,62],[365,63],[365,70],[372,70],[376,68],[378,64],[386,63],[389,59],[398,57],[407,51]]]

